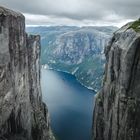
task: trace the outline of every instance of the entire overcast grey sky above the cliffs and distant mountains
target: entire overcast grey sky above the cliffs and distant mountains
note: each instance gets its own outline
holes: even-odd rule
[[[140,0],[0,0],[22,12],[26,25],[116,25],[140,17]]]

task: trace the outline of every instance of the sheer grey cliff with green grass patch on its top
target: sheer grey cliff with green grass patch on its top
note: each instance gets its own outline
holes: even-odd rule
[[[105,49],[103,88],[96,96],[93,140],[140,139],[140,21],[118,30]]]

